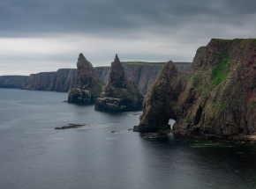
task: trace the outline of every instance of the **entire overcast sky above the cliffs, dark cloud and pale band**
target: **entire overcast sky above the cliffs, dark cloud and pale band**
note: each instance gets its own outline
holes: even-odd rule
[[[212,38],[256,38],[255,0],[1,0],[0,76],[121,61],[192,62]]]

